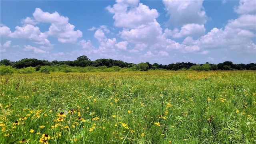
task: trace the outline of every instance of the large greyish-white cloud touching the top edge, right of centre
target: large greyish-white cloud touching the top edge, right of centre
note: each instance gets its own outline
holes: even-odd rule
[[[170,15],[169,23],[174,26],[206,22],[207,16],[201,0],[163,0],[163,3],[167,14]]]

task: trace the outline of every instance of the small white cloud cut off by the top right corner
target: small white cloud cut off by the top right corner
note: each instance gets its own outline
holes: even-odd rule
[[[240,0],[239,6],[234,8],[238,14],[256,14],[255,0]]]

